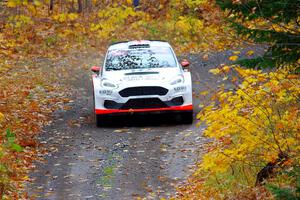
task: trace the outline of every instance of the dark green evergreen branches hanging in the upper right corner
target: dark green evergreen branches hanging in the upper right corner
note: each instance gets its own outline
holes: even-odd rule
[[[268,46],[267,52],[241,64],[252,67],[279,67],[299,62],[299,0],[217,0],[227,11],[228,21],[237,33]]]

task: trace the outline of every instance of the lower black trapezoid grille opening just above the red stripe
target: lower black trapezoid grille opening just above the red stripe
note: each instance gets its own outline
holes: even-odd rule
[[[121,109],[143,109],[143,108],[165,108],[168,107],[164,102],[158,98],[147,98],[147,99],[130,99],[128,100]]]

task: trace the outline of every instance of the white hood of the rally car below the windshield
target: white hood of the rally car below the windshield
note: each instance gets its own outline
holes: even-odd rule
[[[156,68],[156,69],[137,69],[137,70],[121,70],[107,71],[103,76],[104,79],[113,81],[114,83],[137,83],[137,82],[157,82],[167,81],[180,75],[179,68]]]

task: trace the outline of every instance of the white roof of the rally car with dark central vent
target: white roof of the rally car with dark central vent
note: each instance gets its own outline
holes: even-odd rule
[[[148,45],[148,47],[145,45]],[[168,42],[161,40],[133,40],[113,43],[109,46],[108,50],[129,49],[130,46],[144,46],[144,48],[171,47]]]

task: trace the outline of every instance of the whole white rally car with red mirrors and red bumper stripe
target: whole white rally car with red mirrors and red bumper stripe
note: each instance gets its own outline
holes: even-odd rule
[[[103,67],[93,66],[96,124],[107,116],[129,113],[174,112],[183,123],[193,121],[189,62],[180,64],[163,41],[112,44]]]

